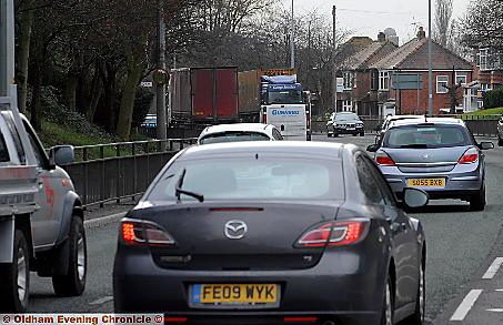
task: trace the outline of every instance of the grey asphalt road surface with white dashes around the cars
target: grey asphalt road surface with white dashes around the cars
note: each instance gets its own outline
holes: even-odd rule
[[[491,139],[484,139],[491,140]],[[313,141],[373,143],[373,135],[314,135]],[[496,142],[492,139],[493,142]],[[427,237],[426,321],[429,324],[503,324],[503,148],[486,152],[487,206],[470,212],[462,201],[433,201],[412,214]],[[129,206],[122,207],[122,210]],[[113,207],[110,213],[121,209]],[[95,214],[95,215],[94,215]],[[107,210],[90,217],[105,215]],[[118,217],[88,228],[88,285],[81,297],[54,297],[51,281],[32,276],[32,313],[111,313],[112,263]],[[501,290],[501,291],[499,291]]]

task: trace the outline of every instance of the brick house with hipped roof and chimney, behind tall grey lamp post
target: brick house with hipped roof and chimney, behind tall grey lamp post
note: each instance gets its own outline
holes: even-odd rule
[[[433,42],[433,114],[449,113],[451,95],[445,87],[453,83],[469,84],[473,80],[473,67],[463,58]],[[372,70],[371,95],[378,98],[379,112],[385,105],[394,105],[398,114],[424,114],[427,112],[427,38],[422,28],[418,37],[369,67]],[[393,89],[396,74],[416,74],[422,78],[420,89]],[[457,90],[459,104],[463,89]]]

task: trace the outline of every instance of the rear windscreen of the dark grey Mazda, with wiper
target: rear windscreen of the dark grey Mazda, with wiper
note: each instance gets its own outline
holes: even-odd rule
[[[198,159],[171,165],[149,194],[150,201],[175,200],[175,185],[185,170],[182,189],[204,200],[339,200],[344,197],[341,165],[316,159]],[[194,200],[182,195],[183,200]]]

